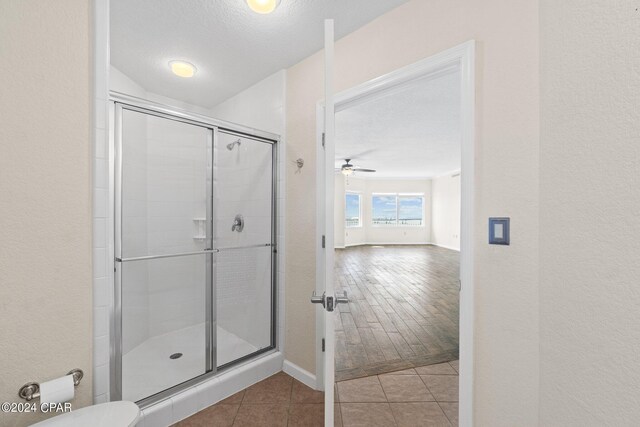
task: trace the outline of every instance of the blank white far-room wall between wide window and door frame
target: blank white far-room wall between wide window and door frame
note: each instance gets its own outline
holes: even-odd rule
[[[431,243],[460,250],[460,174],[431,180]]]

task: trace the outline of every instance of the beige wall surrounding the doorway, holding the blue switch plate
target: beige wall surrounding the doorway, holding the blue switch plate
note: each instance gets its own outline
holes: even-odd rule
[[[340,25],[340,23],[336,23]],[[347,89],[469,39],[477,50],[475,419],[538,420],[538,2],[413,0],[336,43]],[[287,354],[315,372],[315,108],[322,53],[287,73]],[[511,246],[488,246],[489,216],[512,218]]]

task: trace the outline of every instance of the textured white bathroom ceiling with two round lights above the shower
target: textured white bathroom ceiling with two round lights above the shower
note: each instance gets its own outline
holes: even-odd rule
[[[407,0],[282,0],[269,15],[245,0],[111,0],[111,63],[147,91],[211,108]],[[192,79],[168,61],[196,65]]]

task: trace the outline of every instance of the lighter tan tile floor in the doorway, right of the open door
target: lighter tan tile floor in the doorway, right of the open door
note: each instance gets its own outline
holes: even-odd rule
[[[458,361],[336,384],[336,426],[458,425]]]

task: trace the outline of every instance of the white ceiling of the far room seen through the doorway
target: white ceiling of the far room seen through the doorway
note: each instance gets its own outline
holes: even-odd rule
[[[460,169],[460,73],[421,79],[336,114],[336,167],[345,158],[376,173],[430,178]]]

